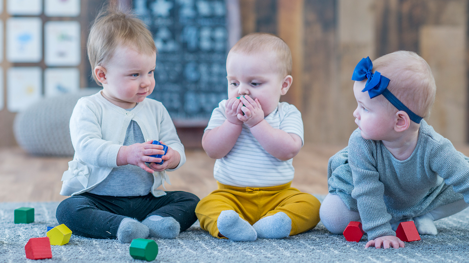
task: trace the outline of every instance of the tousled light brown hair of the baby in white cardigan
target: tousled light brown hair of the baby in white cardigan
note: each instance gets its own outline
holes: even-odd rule
[[[146,55],[157,52],[151,33],[143,21],[136,18],[135,14],[107,7],[94,20],[86,44],[92,75],[98,85],[101,83],[94,68],[108,61],[120,45],[135,48]]]

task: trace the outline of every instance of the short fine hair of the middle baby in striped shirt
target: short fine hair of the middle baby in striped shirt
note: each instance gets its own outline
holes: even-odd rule
[[[251,33],[243,36],[231,48],[230,53],[252,54],[257,52],[274,52],[278,70],[284,76],[292,74],[292,53],[287,43],[270,33]]]

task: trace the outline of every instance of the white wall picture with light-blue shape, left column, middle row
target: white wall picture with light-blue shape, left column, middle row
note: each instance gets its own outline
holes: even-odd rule
[[[42,59],[42,21],[37,17],[7,20],[7,59],[36,63]]]

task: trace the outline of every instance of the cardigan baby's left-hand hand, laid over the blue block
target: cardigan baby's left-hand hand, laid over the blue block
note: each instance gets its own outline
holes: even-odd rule
[[[145,162],[161,162],[160,158],[151,157],[150,155],[164,154],[165,152],[162,150],[163,146],[151,144],[151,142],[153,141],[121,146],[117,153],[117,165],[132,164],[153,173],[153,170],[146,166]]]

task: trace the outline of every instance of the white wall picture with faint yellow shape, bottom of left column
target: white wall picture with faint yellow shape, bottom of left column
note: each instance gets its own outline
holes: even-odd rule
[[[7,108],[21,112],[41,98],[40,67],[11,67],[7,72]]]

